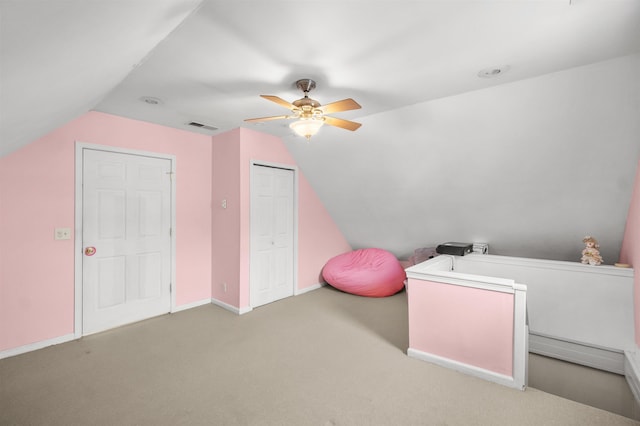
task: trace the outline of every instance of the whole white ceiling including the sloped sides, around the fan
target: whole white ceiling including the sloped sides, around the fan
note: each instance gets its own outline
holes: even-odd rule
[[[354,247],[576,260],[589,233],[613,263],[638,52],[636,0],[0,0],[0,152],[88,110],[246,126],[283,138]],[[306,142],[244,123],[286,113],[258,95],[298,99],[300,78],[321,103],[356,99],[336,116],[363,126]]]

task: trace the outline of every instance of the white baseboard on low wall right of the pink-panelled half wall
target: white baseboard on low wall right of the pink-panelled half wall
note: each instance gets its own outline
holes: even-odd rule
[[[625,374],[625,355],[621,350],[530,333],[529,352],[616,374]]]

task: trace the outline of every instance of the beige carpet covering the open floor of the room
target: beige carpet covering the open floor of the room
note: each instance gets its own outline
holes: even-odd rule
[[[0,360],[1,425],[631,425],[407,357],[406,294],[325,287]]]

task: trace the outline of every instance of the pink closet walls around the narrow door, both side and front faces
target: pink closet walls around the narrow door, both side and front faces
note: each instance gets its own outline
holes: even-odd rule
[[[236,154],[237,152],[237,154]],[[225,155],[224,159],[222,155]],[[236,157],[237,155],[237,157]],[[230,161],[227,161],[230,158]],[[233,163],[238,160],[237,163]],[[249,307],[251,162],[295,166],[280,138],[236,129],[213,138],[212,296],[232,306]],[[233,170],[235,168],[235,171]],[[298,289],[321,282],[328,259],[351,250],[315,191],[298,171]],[[227,209],[220,208],[227,199]],[[227,283],[227,293],[222,283]]]

